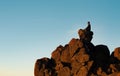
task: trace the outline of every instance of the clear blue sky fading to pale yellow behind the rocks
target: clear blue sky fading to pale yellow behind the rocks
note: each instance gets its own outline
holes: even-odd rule
[[[91,22],[94,45],[120,47],[120,0],[0,0],[0,76],[34,76],[37,59]]]

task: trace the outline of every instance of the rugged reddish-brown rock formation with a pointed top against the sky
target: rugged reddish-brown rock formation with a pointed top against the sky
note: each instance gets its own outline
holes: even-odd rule
[[[58,46],[51,58],[38,59],[34,76],[120,76],[120,47],[110,55],[106,45],[93,45],[90,22],[78,35]]]

